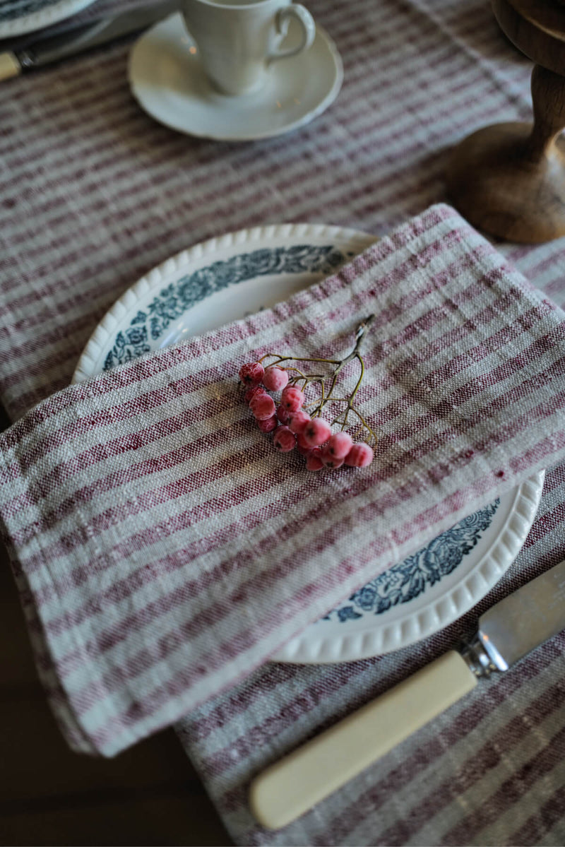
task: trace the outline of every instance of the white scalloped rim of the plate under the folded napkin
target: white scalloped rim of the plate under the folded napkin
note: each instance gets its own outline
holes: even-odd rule
[[[296,238],[303,238],[305,241],[331,239],[339,242],[336,246],[353,252],[363,250],[378,241],[378,236],[351,227],[296,223],[264,224],[197,242],[152,268],[114,302],[87,341],[76,365],[72,382],[81,382],[99,373],[96,368],[101,357],[107,352],[108,340],[111,340],[112,333],[125,327],[128,319],[139,310],[141,303],[147,300],[147,296],[154,296],[163,285],[178,279],[187,269],[194,268],[195,263],[205,262],[208,257],[217,257],[218,252],[222,250],[249,245],[260,246],[268,240],[284,241]],[[407,608],[407,614],[392,623],[381,623],[375,618],[374,628],[363,632],[337,631],[336,634],[334,628],[332,634],[318,637],[313,635],[313,628],[320,624],[311,624],[271,656],[271,661],[296,664],[357,661],[409,646],[453,623],[485,596],[518,555],[534,521],[544,478],[545,471],[540,471],[517,486],[507,518],[490,547],[479,558],[479,562],[444,594],[436,596],[417,612],[411,612]],[[511,524],[517,522],[519,526],[515,529]],[[505,542],[508,535],[510,544]],[[480,587],[473,590],[470,585],[472,581],[479,581]],[[459,595],[465,595],[464,601],[456,602],[457,592]],[[440,604],[449,607],[449,612],[442,615]],[[435,623],[426,627],[424,618],[432,619]],[[406,631],[407,622],[412,624],[409,634]]]

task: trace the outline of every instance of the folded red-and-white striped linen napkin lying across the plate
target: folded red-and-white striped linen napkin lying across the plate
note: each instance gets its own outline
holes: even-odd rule
[[[341,358],[370,313],[374,462],[308,472],[258,430],[238,370]],[[0,437],[0,517],[69,743],[112,756],[245,678],[562,461],[564,408],[565,315],[447,206],[273,309],[40,403]]]

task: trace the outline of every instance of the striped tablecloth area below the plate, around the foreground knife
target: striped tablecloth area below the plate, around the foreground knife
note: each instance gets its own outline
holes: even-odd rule
[[[481,612],[557,564],[564,501],[560,468],[546,476],[538,519],[516,564],[473,612],[440,634],[363,662],[271,663],[178,724],[236,844],[564,843],[565,634],[511,671],[480,680],[470,695],[290,826],[266,831],[247,805],[255,773],[456,646]]]

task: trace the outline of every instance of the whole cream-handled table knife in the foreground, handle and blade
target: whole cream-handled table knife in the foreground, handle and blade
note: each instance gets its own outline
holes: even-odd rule
[[[479,678],[507,671],[563,628],[565,561],[492,606],[459,650],[259,773],[249,794],[253,816],[263,827],[285,827],[468,694]]]

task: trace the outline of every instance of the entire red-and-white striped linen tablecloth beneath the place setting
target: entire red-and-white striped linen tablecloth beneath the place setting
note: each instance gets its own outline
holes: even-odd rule
[[[133,5],[124,0],[119,8]],[[29,420],[30,407],[69,385],[116,297],[186,246],[281,221],[384,235],[446,199],[452,144],[493,121],[530,119],[531,65],[501,35],[484,0],[307,5],[335,40],[345,80],[332,107],[289,136],[238,145],[157,125],[130,95],[124,44],[2,86],[0,392],[11,418]],[[87,14],[116,6],[98,0]],[[496,248],[551,302],[565,305],[565,240]],[[246,786],[260,767],[438,656],[496,598],[565,556],[565,466],[547,467],[522,553],[463,620],[416,647],[362,662],[261,664],[177,723],[235,841],[563,843],[563,636],[290,828],[263,831],[246,805]],[[36,617],[30,634],[41,652]],[[73,744],[102,748],[77,721],[53,664],[40,661],[39,671]],[[120,744],[134,739],[146,719],[138,707],[127,729],[115,727],[112,744],[122,731]],[[175,719],[148,713],[153,728]]]

